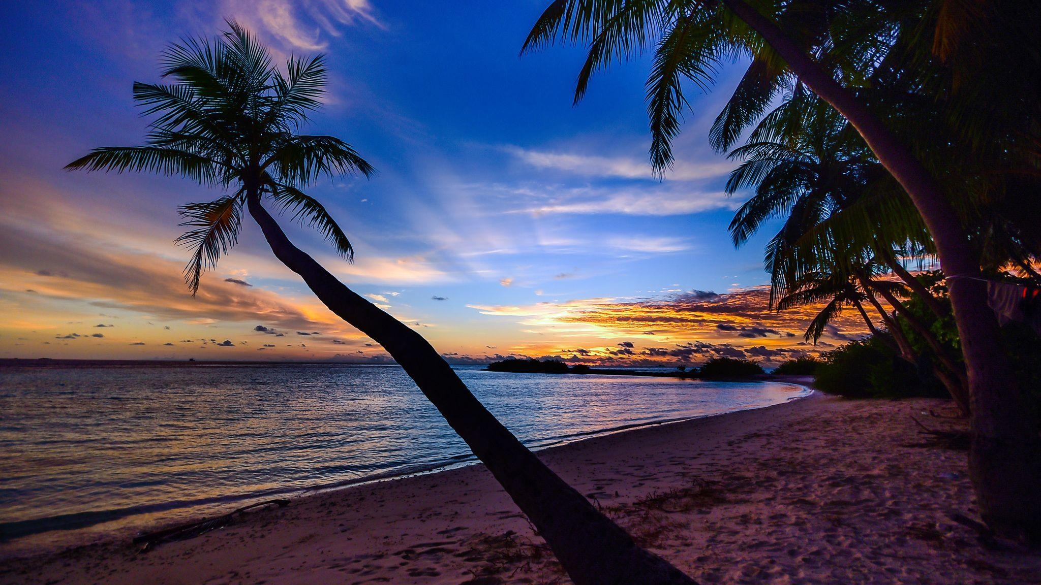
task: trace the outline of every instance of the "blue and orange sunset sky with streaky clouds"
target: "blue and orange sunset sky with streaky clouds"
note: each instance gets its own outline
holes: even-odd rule
[[[174,0],[0,8],[0,357],[386,362],[326,309],[248,219],[192,297],[177,206],[222,193],[180,178],[69,173],[99,146],[141,143],[133,81],[158,80],[180,37],[235,20],[279,60],[325,53],[329,92],[304,131],[378,170],[309,187],[345,229],[348,263],[281,218],[348,286],[450,361],[557,356],[592,363],[777,363],[864,333],[843,312],[816,347],[812,308],[768,310],[762,250],[734,249],[747,193],[707,131],[742,73],[691,108],[663,180],[648,159],[646,55],[573,105],[582,47],[519,55],[548,0]]]

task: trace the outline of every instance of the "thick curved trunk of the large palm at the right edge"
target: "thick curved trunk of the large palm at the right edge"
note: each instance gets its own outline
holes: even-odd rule
[[[965,356],[972,409],[969,475],[984,522],[999,534],[1041,540],[1041,437],[1013,376],[979,254],[936,178],[911,149],[852,92],[814,61],[769,18],[743,0],[722,0],[788,63],[807,87],[857,129],[904,187],[929,228],[946,272]]]

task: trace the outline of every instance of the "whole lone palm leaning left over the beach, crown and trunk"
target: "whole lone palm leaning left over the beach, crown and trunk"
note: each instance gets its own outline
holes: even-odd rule
[[[134,99],[146,115],[156,116],[145,146],[95,149],[67,168],[150,171],[224,187],[228,195],[181,209],[186,218],[182,225],[191,229],[179,241],[194,250],[185,269],[193,294],[201,274],[235,244],[243,210],[248,210],[275,256],[332,312],[393,356],[528,515],[576,583],[693,583],[637,546],[539,461],[418,333],[345,286],[289,241],[265,205],[315,227],[351,259],[344,231],[302,188],[321,176],[369,176],[373,167],[339,138],[297,133],[320,105],[323,57],[290,58],[282,73],[262,45],[238,25],[229,25],[231,30],[212,43],[187,41],[167,50],[162,76],[177,83],[134,84]]]

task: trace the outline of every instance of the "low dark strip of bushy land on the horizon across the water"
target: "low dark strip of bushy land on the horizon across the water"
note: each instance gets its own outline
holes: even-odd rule
[[[653,376],[659,378],[699,378],[703,380],[747,380],[766,375],[759,363],[747,359],[718,357],[710,359],[701,367],[687,368],[679,365],[675,371],[646,372],[638,370],[596,368],[584,363],[568,365],[559,359],[517,359],[509,358],[488,364],[488,372],[513,372],[520,374],[601,374],[608,376]]]

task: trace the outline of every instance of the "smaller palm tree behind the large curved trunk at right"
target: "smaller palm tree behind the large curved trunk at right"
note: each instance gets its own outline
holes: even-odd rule
[[[905,292],[904,285],[874,279],[879,266],[872,254],[888,254],[907,285],[922,294],[926,305],[930,302],[938,305],[892,254],[893,243],[903,246],[921,241],[928,246],[929,234],[917,211],[902,206],[900,194],[887,188],[890,181],[880,175],[878,161],[860,136],[850,131],[848,123],[816,96],[796,87],[793,95],[759,122],[746,144],[733,150],[729,157],[744,161],[731,173],[727,193],[755,188],[731,222],[734,245],[747,241],[766,219],[787,215],[784,226],[766,247],[771,307],[784,310],[828,301],[807,330],[807,339],[813,337],[816,342],[824,326],[846,304],[857,307],[873,330],[873,324],[859,304],[868,301],[893,334],[902,357],[917,364],[920,356],[914,354],[899,325],[873,296],[879,292],[903,314],[906,308],[895,296]],[[896,201],[889,201],[892,199]],[[885,222],[877,219],[879,200],[889,201]],[[914,315],[908,313],[905,317],[949,371],[950,376],[940,373],[940,377],[962,412],[968,415],[964,366],[947,355],[947,349]]]

